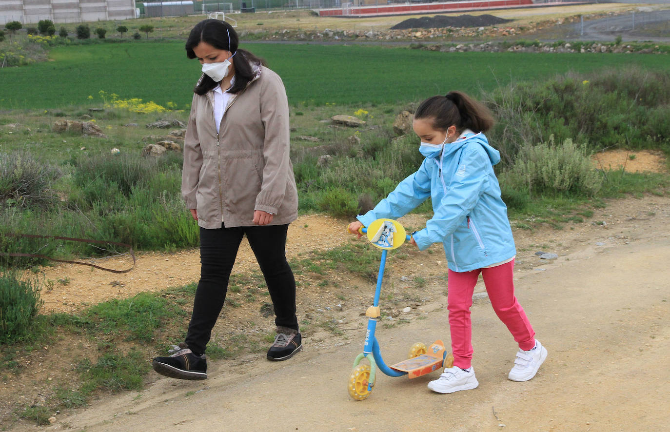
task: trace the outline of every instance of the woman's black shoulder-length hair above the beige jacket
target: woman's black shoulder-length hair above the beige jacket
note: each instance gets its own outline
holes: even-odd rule
[[[230,38],[228,38],[230,35]],[[231,93],[239,93],[247,87],[247,84],[254,77],[253,70],[250,63],[260,63],[266,66],[265,60],[254,56],[247,50],[238,50],[239,38],[235,29],[225,21],[219,19],[204,19],[196,24],[188,35],[186,40],[186,56],[188,58],[197,58],[193,49],[200,44],[206,42],[218,50],[226,50],[235,53],[232,58],[232,64],[235,67],[235,84],[232,85]],[[196,94],[205,94],[218,85],[218,82],[212,80],[210,76],[202,74],[198,84],[196,84],[193,91]]]

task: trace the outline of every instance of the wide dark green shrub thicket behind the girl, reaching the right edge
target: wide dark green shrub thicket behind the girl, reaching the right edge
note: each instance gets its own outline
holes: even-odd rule
[[[486,99],[497,120],[488,138],[500,150],[502,169],[513,165],[523,145],[549,135],[557,142],[589,143],[593,150],[670,145],[662,120],[669,111],[670,72],[628,67],[569,73],[510,84]]]

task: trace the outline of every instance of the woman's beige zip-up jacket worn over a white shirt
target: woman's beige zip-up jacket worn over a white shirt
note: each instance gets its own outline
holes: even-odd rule
[[[184,137],[182,195],[198,210],[202,228],[253,226],[254,210],[274,214],[272,225],[297,217],[289,159],[289,107],[281,78],[254,65],[255,78],[232,94],[219,133],[214,92],[194,94]]]

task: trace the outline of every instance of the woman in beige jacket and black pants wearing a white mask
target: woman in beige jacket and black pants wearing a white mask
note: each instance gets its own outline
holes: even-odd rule
[[[184,344],[153,359],[153,369],[172,378],[207,378],[205,347],[245,235],[275,309],[277,336],[267,358],[302,350],[285,257],[288,224],[297,216],[286,92],[281,78],[238,44],[235,30],[216,19],[200,21],[186,42],[203,74],[184,138],[182,195],[200,226],[202,267]]]

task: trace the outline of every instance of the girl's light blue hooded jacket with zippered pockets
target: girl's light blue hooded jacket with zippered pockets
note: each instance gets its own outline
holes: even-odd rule
[[[458,272],[509,260],[517,250],[493,171],[499,161],[500,152],[483,133],[468,131],[445,144],[438,157],[425,158],[418,171],[358,220],[369,226],[379,218],[397,219],[430,197],[433,217],[413,234],[420,250],[442,242],[449,269]]]

